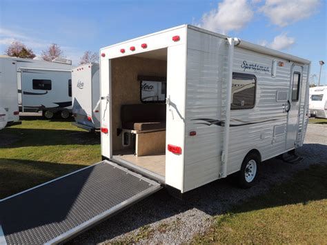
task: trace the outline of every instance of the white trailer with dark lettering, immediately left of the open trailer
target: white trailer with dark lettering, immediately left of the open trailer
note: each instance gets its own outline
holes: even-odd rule
[[[74,125],[88,131],[99,130],[99,63],[86,63],[72,70],[72,115]]]

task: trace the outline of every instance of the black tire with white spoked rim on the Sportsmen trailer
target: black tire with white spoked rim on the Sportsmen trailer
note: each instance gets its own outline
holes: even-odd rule
[[[246,189],[257,184],[259,166],[260,157],[257,153],[248,153],[248,155],[244,157],[244,160],[241,165],[241,170],[239,170],[239,173],[237,175],[239,187]]]

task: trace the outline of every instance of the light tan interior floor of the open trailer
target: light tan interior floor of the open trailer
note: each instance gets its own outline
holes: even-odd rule
[[[126,150],[117,150],[114,153],[114,155],[125,161],[129,161],[131,164],[135,164],[136,166],[145,168],[151,171],[152,173],[156,173],[157,175],[161,175],[165,177],[165,172],[166,172],[165,153],[137,157],[136,155],[134,155],[132,149],[126,149]]]

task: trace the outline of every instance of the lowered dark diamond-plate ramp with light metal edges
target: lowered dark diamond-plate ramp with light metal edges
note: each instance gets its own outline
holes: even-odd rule
[[[160,188],[157,182],[101,161],[0,200],[0,244],[63,242]]]

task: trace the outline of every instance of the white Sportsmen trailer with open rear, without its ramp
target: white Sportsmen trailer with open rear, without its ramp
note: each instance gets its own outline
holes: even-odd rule
[[[306,59],[195,26],[101,48],[103,159],[177,193],[236,172],[252,186],[261,161],[303,144],[309,69]],[[143,86],[155,83],[165,89],[144,101]]]

